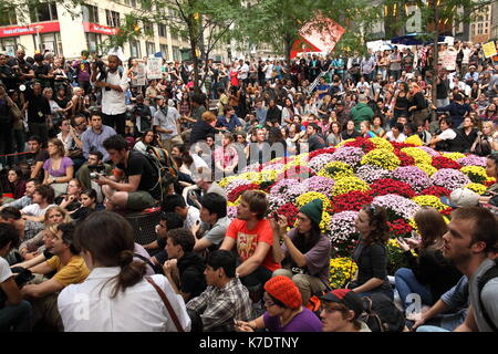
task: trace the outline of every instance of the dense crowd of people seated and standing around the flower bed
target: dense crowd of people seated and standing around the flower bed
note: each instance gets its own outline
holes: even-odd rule
[[[364,206],[357,275],[331,289],[320,199],[289,230],[255,190],[230,220],[217,184],[360,136],[487,156],[497,178],[498,58],[456,42],[433,63],[434,50],[209,61],[200,91],[186,62],[141,85],[138,61],[118,53],[0,54],[0,329],[497,331],[498,278],[479,280],[498,251],[488,209],[457,208],[446,225],[423,208],[418,235],[398,241],[409,268],[388,274],[386,211]],[[155,240],[139,244],[126,216],[156,208]],[[413,293],[424,309],[405,316]],[[380,327],[364,299],[383,304]]]

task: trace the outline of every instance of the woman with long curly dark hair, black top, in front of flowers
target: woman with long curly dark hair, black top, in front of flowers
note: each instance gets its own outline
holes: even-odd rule
[[[363,206],[355,227],[360,233],[360,242],[353,252],[353,260],[359,270],[347,288],[361,296],[382,292],[393,300],[394,291],[387,280],[386,243],[390,236],[384,208],[373,205]]]

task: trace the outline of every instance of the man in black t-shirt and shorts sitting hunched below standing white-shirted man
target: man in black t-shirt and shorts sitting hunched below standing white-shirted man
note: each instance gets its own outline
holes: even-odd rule
[[[122,177],[100,176],[95,181],[102,186],[107,198],[107,210],[151,208],[160,198],[158,170],[143,154],[127,150],[128,143],[121,135],[104,140],[110,158],[120,169]]]

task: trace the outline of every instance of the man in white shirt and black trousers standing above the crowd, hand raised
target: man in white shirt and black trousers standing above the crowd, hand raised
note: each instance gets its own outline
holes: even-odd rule
[[[128,90],[128,79],[123,71],[118,70],[122,65],[117,55],[107,56],[107,70],[105,73],[101,72],[97,81],[96,62],[92,64],[91,83],[98,88],[102,88],[102,117],[104,125],[115,128],[117,134],[124,136],[126,123],[126,103],[125,92]]]

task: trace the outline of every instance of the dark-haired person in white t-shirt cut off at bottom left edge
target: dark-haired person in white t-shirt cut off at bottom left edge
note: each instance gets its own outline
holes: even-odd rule
[[[4,303],[0,303],[1,332],[30,332],[31,305],[22,300],[21,291],[14,281],[9,263],[4,259],[19,246],[19,235],[13,226],[0,223],[0,290],[4,294]],[[249,319],[247,319],[249,320]]]

